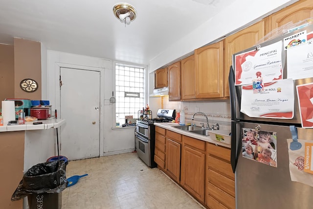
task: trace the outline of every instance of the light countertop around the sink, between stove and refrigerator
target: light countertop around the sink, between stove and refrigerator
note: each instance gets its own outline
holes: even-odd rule
[[[225,144],[223,142],[219,142],[217,140],[214,140],[210,136],[203,136],[201,134],[196,134],[196,133],[192,133],[192,132],[189,132],[189,131],[185,131],[185,130],[181,130],[179,128],[173,127],[173,126],[179,125],[179,124],[176,124],[176,123],[154,123],[154,125],[159,126],[161,128],[165,128],[167,130],[174,131],[176,133],[180,133],[180,134],[185,135],[185,136],[189,136],[189,137],[192,137],[192,138],[195,138],[195,139],[199,139],[199,140],[202,140],[202,141],[205,141],[205,142],[210,142],[210,143],[213,143],[213,144],[216,144],[216,145],[220,145],[220,146],[224,146],[224,147],[230,148],[230,145]]]

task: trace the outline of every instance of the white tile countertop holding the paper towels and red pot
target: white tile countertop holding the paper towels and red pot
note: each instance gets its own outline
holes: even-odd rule
[[[65,119],[52,118],[36,122],[43,122],[43,124],[33,125],[33,122],[25,122],[25,124],[22,125],[7,125],[7,123],[4,123],[3,126],[0,126],[0,132],[57,128],[65,124]]]

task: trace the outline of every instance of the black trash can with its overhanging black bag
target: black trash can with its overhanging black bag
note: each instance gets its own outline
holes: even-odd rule
[[[37,164],[24,174],[11,201],[28,196],[29,209],[61,209],[62,191],[67,188],[65,174],[62,160]]]

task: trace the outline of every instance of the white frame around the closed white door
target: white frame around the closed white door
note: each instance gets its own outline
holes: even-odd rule
[[[55,109],[57,112],[61,112],[61,90],[60,90],[60,75],[61,75],[61,67],[65,68],[73,68],[73,69],[81,69],[81,70],[92,70],[92,71],[98,71],[100,72],[100,133],[99,133],[99,156],[103,156],[103,139],[104,139],[104,68],[101,67],[90,67],[85,65],[77,65],[77,64],[68,64],[68,63],[55,63],[55,70],[54,70],[54,80],[55,80]],[[52,111],[53,112],[53,111]],[[60,127],[60,129],[62,126]],[[59,137],[61,137],[60,130],[58,131]],[[59,142],[61,142],[62,139],[59,138]],[[57,145],[57,144],[56,144]],[[55,151],[57,153],[57,146],[55,146]]]

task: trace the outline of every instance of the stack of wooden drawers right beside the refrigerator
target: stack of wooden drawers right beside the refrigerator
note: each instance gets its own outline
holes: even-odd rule
[[[235,209],[235,174],[230,165],[230,149],[206,143],[206,206]]]

